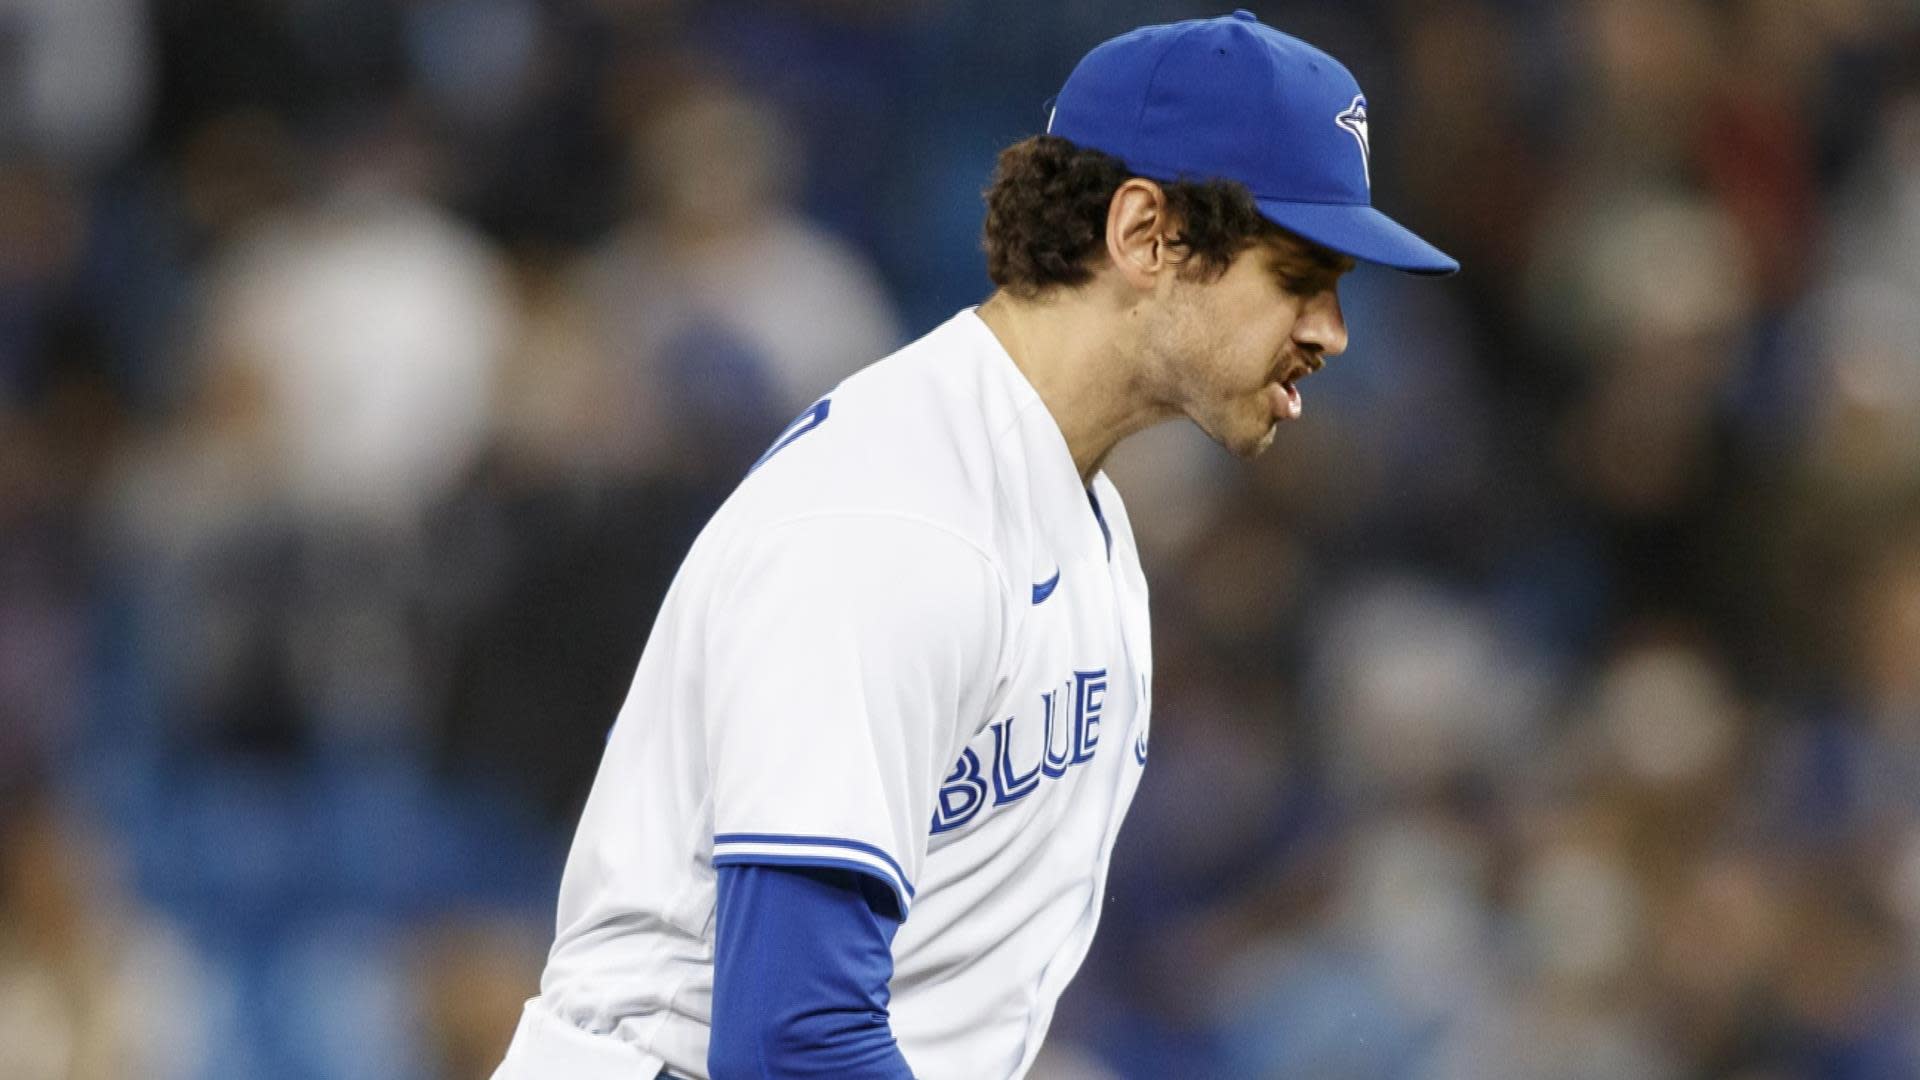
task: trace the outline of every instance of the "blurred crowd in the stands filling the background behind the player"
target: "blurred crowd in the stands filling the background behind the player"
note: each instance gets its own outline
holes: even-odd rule
[[[1116,455],[1152,761],[1035,1076],[1920,1076],[1920,8],[1250,6],[1465,273]],[[0,0],[0,1076],[484,1078],[693,534],[1204,13]]]

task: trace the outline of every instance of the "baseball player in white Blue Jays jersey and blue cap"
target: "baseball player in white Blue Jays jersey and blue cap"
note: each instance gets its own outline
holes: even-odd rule
[[[1148,757],[1116,442],[1252,457],[1346,348],[1367,100],[1252,13],[1144,27],[1000,156],[977,309],[793,421],[693,544],[495,1080],[998,1080],[1033,1065]]]

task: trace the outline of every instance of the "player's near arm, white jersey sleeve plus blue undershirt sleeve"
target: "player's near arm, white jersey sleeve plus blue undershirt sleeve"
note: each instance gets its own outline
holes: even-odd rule
[[[904,1078],[893,930],[941,778],[985,715],[1006,586],[964,540],[887,515],[776,527],[732,563],[703,632],[720,890],[708,1067]]]

